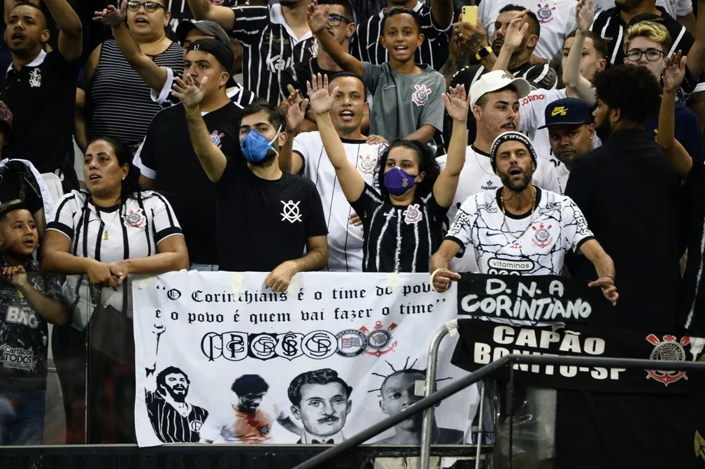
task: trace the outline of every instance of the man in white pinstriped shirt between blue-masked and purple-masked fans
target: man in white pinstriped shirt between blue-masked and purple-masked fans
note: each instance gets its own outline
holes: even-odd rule
[[[355,165],[364,182],[374,185],[377,159],[384,147],[381,137],[362,135],[362,118],[369,115],[367,89],[359,77],[340,73],[330,82],[331,89],[338,87],[336,100],[331,108],[333,125],[338,131],[348,160]],[[370,143],[368,143],[370,142]],[[300,174],[312,180],[323,202],[328,225],[329,258],[327,270],[331,272],[362,271],[362,226],[349,221],[355,211],[350,207],[336,177],[336,170],[326,154],[319,132],[304,132],[293,141],[292,151],[283,149],[279,156],[281,170]]]

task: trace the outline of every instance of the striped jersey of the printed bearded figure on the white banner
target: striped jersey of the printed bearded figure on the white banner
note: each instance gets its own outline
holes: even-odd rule
[[[200,430],[208,417],[208,411],[188,404],[188,415],[182,415],[176,408],[156,392],[145,390],[147,416],[152,423],[154,434],[162,443],[198,443]]]

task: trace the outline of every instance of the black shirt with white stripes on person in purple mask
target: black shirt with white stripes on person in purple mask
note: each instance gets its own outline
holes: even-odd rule
[[[441,245],[448,207],[433,192],[409,206],[395,206],[365,184],[360,199],[350,204],[362,219],[363,272],[428,272],[431,254]]]

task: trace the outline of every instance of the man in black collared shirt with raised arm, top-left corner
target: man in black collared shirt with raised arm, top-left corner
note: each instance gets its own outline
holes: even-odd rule
[[[4,37],[12,66],[0,85],[13,113],[13,135],[4,156],[25,158],[40,173],[55,173],[63,190],[78,189],[73,169],[73,115],[83,30],[66,0],[44,0],[59,29],[59,46],[47,53],[47,17],[32,4],[10,11]]]

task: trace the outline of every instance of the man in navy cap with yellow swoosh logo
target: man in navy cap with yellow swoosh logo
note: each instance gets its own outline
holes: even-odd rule
[[[590,108],[577,98],[553,101],[546,106],[545,117],[546,124],[539,128],[548,130],[551,151],[563,163],[556,168],[563,195],[575,160],[594,148],[595,125]]]

